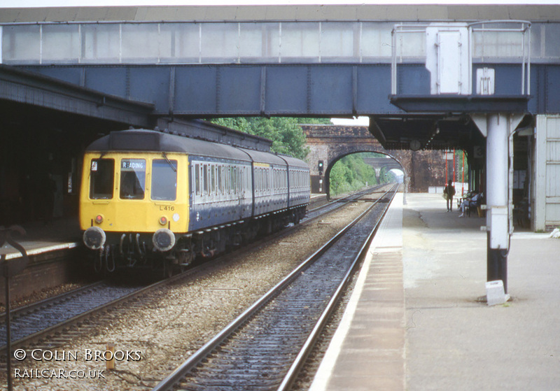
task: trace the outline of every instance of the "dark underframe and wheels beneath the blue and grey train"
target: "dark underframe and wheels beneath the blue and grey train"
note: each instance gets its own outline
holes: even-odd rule
[[[259,237],[280,231],[290,223],[298,224],[307,211],[307,205],[287,211],[268,213],[224,225],[199,229],[188,233],[169,231],[169,247],[155,243],[153,233],[107,232],[104,246],[93,250],[94,270],[112,273],[123,269],[148,269],[162,271],[172,276],[186,269],[197,260],[205,260],[233,248],[243,246]],[[167,246],[166,246],[167,245]]]

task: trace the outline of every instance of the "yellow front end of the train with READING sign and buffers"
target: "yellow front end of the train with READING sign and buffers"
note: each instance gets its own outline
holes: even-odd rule
[[[188,191],[186,154],[86,152],[80,228],[96,269],[162,266],[188,230]]]

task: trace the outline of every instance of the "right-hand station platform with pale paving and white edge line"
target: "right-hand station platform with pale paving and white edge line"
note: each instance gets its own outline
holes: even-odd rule
[[[560,389],[560,240],[514,232],[488,306],[485,222],[398,194],[311,390]]]

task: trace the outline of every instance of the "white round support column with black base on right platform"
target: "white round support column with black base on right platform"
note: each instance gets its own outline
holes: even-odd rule
[[[502,280],[507,293],[507,253],[512,233],[511,137],[523,115],[506,113],[472,115],[486,136],[486,280]]]

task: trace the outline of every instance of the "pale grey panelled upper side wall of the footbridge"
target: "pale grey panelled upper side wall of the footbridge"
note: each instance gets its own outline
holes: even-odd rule
[[[496,22],[521,23],[525,27],[520,29],[528,25],[519,21]],[[493,31],[487,27],[489,23],[493,21],[471,26],[473,31],[488,35]],[[426,26],[397,24],[393,28],[393,24],[389,21],[6,23],[0,25],[0,63],[388,63],[395,50],[394,39],[391,45],[391,29],[394,36],[395,31],[401,34],[405,29]],[[560,31],[560,24],[539,24],[540,29],[550,29],[552,36]],[[416,41],[401,44],[407,50],[417,51],[422,47]],[[545,58],[543,55],[556,47],[556,40],[541,40],[540,46],[540,57]],[[501,56],[502,60],[510,61],[507,52]]]

